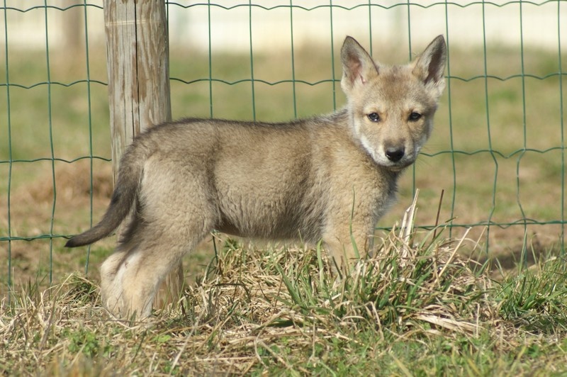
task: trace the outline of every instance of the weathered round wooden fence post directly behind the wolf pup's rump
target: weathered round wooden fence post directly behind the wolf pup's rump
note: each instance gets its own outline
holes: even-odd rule
[[[103,5],[116,182],[120,156],[133,137],[172,119],[169,40],[163,0],[104,0]],[[155,307],[175,303],[183,283],[180,262],[162,284]]]

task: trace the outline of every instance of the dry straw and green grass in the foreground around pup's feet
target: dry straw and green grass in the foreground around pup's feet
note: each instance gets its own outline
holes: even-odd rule
[[[407,224],[408,230],[412,226]],[[434,234],[435,233],[435,234]],[[223,240],[206,274],[148,321],[108,317],[94,281],[30,285],[0,316],[0,370],[114,374],[559,375],[566,266],[494,281],[444,230],[391,232],[351,274],[324,252]]]

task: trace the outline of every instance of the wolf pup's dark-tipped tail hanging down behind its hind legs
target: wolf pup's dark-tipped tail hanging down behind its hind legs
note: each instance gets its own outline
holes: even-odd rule
[[[132,208],[137,196],[145,162],[144,154],[142,148],[135,146],[129,148],[120,162],[118,180],[112,194],[111,203],[101,222],[67,241],[65,247],[79,247],[101,240],[111,235],[123,222],[130,213],[130,208]]]

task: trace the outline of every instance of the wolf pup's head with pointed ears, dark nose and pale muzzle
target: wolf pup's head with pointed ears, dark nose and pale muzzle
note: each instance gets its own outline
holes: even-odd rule
[[[374,62],[351,37],[341,50],[341,87],[354,137],[372,159],[398,171],[415,162],[430,137],[444,89],[447,47],[442,35],[409,64]]]

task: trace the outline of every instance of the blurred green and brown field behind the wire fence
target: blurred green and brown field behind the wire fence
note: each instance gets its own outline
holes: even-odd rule
[[[1,258],[8,257],[8,235],[30,239],[10,244],[16,283],[45,279],[48,271],[58,279],[86,264],[88,254],[64,249],[60,237],[33,238],[86,230],[108,204],[112,178],[105,56],[103,47],[91,47],[90,83],[85,81],[85,58],[69,59],[65,51],[51,51],[49,67],[45,53],[28,50],[13,50],[8,64],[0,64],[0,237],[6,237],[0,241]],[[385,63],[408,59],[395,46],[375,49],[374,56]],[[314,46],[294,52],[293,71],[291,55],[283,52],[253,58],[257,81],[252,91],[249,55],[213,55],[209,64],[208,55],[172,50],[174,118],[282,121],[343,106],[338,56],[334,72],[329,53]],[[392,227],[415,188],[420,189],[416,223],[433,225],[444,190],[442,223],[455,218],[459,225],[506,224],[490,227],[488,237],[484,226],[471,232],[473,238],[483,234],[489,254],[517,257],[524,235],[536,252],[558,250],[565,210],[561,117],[567,110],[561,87],[567,87],[567,79],[563,76],[561,86],[557,72],[567,72],[567,57],[560,69],[556,53],[525,50],[522,66],[519,49],[495,46],[484,55],[451,46],[449,59],[451,79],[432,139],[400,182],[398,204],[378,225]],[[290,82],[292,74],[296,84]],[[91,159],[83,158],[89,156],[95,157],[92,197]],[[524,227],[524,218],[546,224]],[[454,228],[455,235],[463,230]],[[94,245],[89,276],[98,278],[94,266],[112,247],[113,240]],[[198,263],[193,259],[192,264]],[[4,264],[2,291],[6,271]]]

